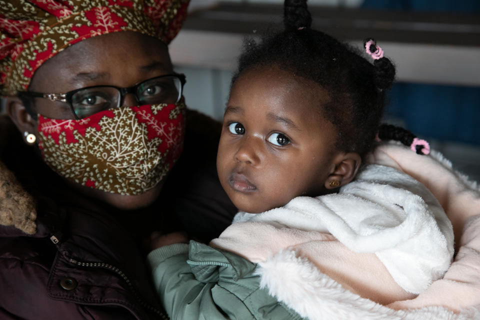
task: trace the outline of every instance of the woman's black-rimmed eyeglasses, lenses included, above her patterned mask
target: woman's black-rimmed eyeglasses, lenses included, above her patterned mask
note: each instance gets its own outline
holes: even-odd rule
[[[166,74],[126,88],[114,85],[93,85],[66,93],[21,91],[18,92],[18,96],[47,98],[68,103],[75,118],[81,119],[106,109],[119,107],[127,93],[134,93],[136,100],[142,104],[176,103],[181,98],[185,82],[183,74]]]

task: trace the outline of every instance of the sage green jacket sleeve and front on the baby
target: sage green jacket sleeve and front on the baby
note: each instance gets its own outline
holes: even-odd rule
[[[148,261],[172,320],[302,319],[260,288],[256,263],[235,253],[190,241],[155,249]]]

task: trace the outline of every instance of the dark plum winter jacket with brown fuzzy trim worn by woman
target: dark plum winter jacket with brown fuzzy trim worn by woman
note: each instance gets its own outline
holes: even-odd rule
[[[122,211],[70,189],[0,117],[0,221],[10,224],[0,225],[0,318],[161,319],[149,233],[208,241],[236,212],[216,177],[217,140],[217,123],[189,112],[184,153],[160,197]]]

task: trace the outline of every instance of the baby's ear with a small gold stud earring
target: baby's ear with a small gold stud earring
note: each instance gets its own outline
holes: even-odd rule
[[[341,153],[335,158],[335,167],[325,180],[325,188],[334,189],[350,182],[361,164],[358,153]]]

